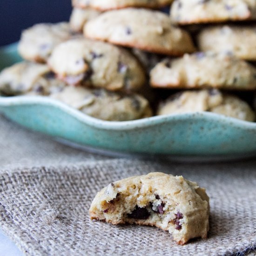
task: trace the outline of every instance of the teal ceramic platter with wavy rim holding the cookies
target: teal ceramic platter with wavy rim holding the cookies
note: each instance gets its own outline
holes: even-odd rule
[[[15,44],[0,49],[0,68],[17,61]],[[0,113],[29,129],[101,150],[209,157],[256,155],[256,123],[209,112],[101,121],[47,97],[2,96]]]

